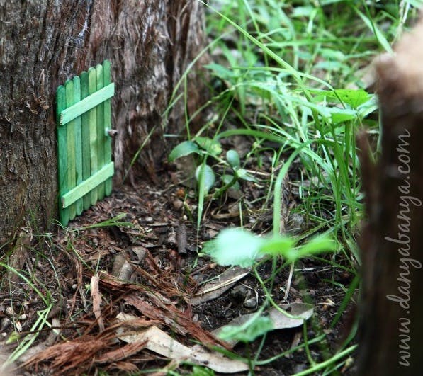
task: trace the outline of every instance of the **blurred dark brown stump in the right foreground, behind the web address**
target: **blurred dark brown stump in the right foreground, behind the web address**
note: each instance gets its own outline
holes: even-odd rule
[[[383,152],[376,165],[363,161],[358,375],[419,375],[423,366],[423,23],[395,50],[378,65]]]

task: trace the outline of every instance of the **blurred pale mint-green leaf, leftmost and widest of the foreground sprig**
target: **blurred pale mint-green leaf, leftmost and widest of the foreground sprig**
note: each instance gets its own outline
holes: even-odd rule
[[[242,229],[224,229],[218,237],[205,243],[203,252],[222,266],[254,265],[265,239]]]

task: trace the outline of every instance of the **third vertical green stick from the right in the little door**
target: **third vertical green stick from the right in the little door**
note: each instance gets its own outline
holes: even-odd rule
[[[96,69],[90,68],[88,70],[88,91],[89,94],[95,93],[97,90],[97,76]],[[89,118],[89,145],[90,145],[90,165],[91,174],[98,171],[98,158],[97,158],[97,109],[91,108],[88,112]],[[90,193],[91,205],[97,202],[97,190],[93,189]]]

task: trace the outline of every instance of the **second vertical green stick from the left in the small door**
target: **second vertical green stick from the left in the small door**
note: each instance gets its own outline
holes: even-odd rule
[[[66,89],[66,106],[74,104],[74,82],[68,80],[64,84]],[[67,123],[67,188],[72,190],[77,185],[77,163],[75,161],[75,122]],[[69,207],[69,220],[73,220],[77,215],[77,207]]]

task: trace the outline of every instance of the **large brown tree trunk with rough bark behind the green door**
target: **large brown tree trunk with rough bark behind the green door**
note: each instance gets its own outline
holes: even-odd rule
[[[137,162],[154,179],[162,134],[184,126],[184,103],[162,113],[203,37],[197,0],[0,0],[0,244],[31,218],[43,231],[56,217],[57,86],[110,59],[115,181],[152,127]],[[191,111],[205,92],[192,75]]]

